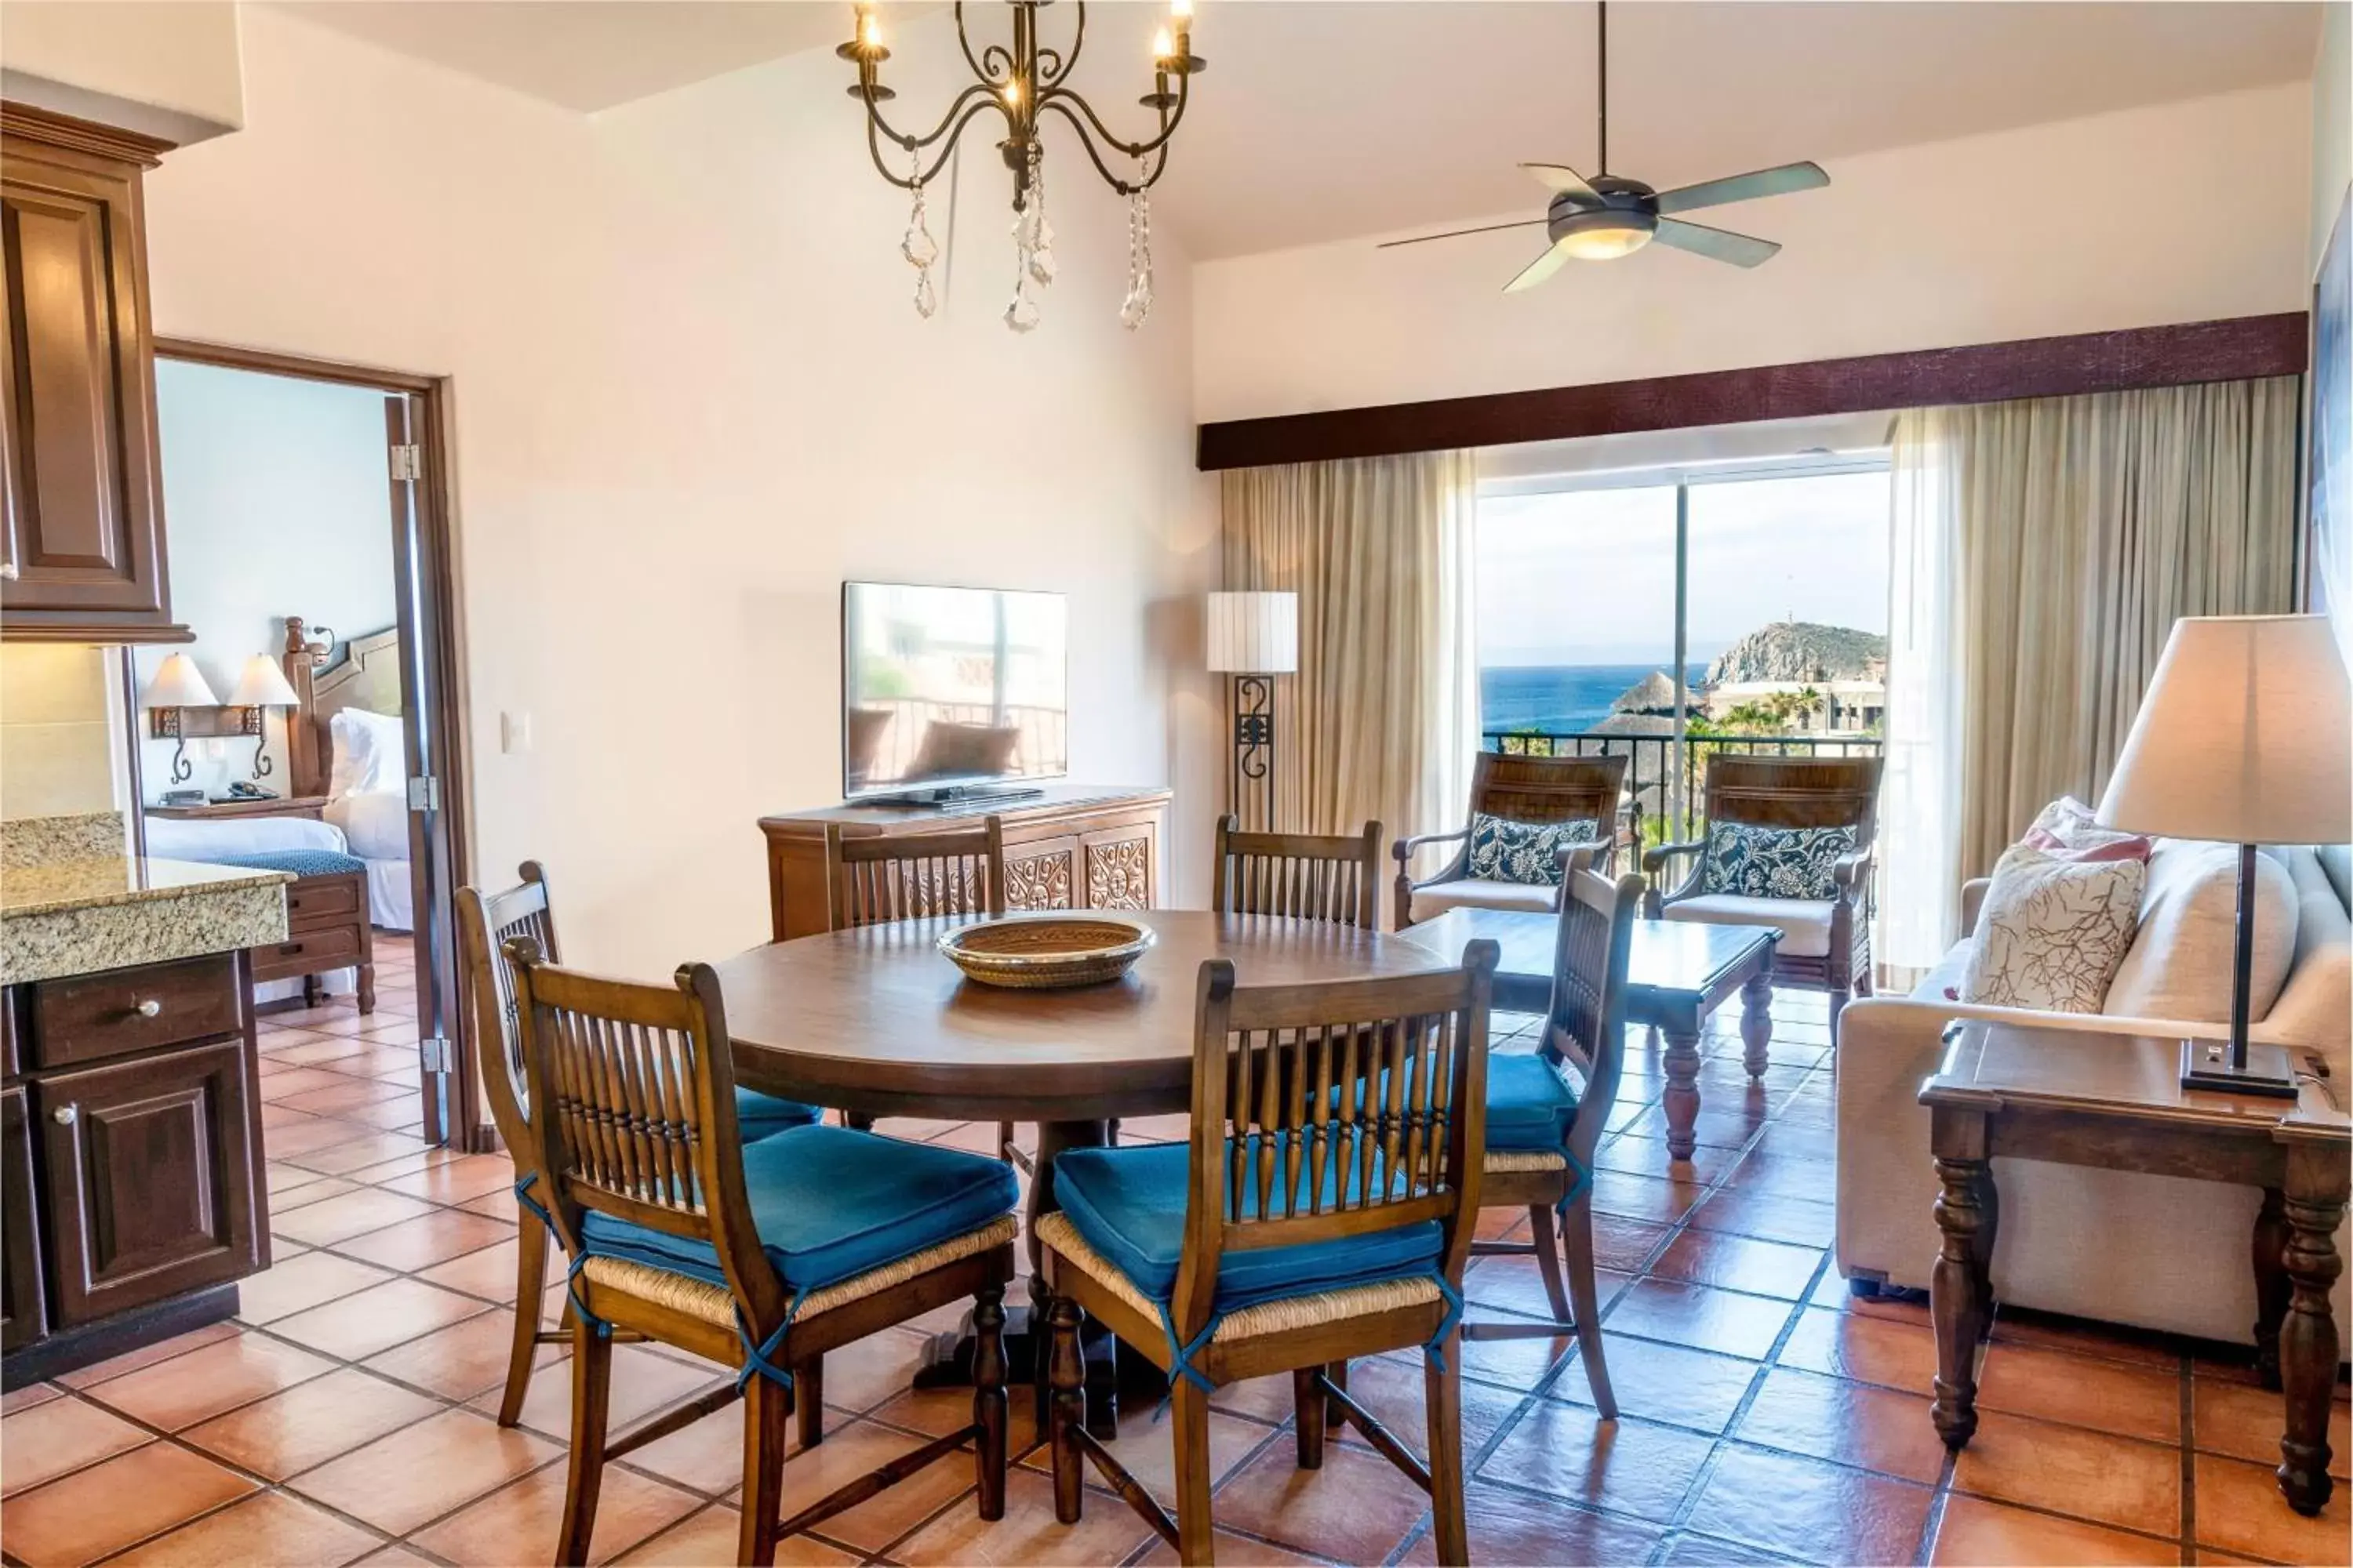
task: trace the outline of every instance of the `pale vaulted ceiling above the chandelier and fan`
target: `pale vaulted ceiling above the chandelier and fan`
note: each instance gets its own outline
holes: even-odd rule
[[[285,9],[574,110],[849,33],[847,2]],[[882,7],[894,28],[946,26],[918,21],[939,9]],[[1042,12],[1049,40],[1071,9]],[[1002,28],[995,7],[965,14],[976,33]],[[1141,61],[1160,14],[1092,7],[1075,85],[1106,113],[1146,87]],[[2268,2],[1617,5],[1609,162],[1666,188],[2308,80],[2318,28],[2320,7]],[[1158,197],[1162,221],[1202,259],[1511,212],[1532,202],[1515,162],[1593,165],[1595,45],[1584,0],[1202,0],[1193,45],[1209,71],[1193,85]],[[2019,174],[2031,183],[2033,169]]]

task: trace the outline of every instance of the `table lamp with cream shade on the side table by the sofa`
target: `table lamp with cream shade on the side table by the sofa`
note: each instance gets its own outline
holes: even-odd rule
[[[2325,616],[2184,616],[2148,677],[2099,823],[2238,844],[2231,1039],[2181,1041],[2181,1086],[2292,1098],[2282,1046],[2247,1044],[2254,846],[2353,837],[2353,686]]]

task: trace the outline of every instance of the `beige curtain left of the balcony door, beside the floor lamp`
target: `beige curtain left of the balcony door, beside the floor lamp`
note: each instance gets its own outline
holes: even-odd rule
[[[1231,470],[1231,590],[1299,595],[1275,682],[1275,825],[1391,839],[1459,827],[1478,750],[1468,451]]]

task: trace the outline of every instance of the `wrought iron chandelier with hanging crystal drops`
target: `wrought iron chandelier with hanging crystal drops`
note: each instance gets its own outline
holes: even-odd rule
[[[1094,172],[1127,197],[1127,299],[1120,301],[1120,324],[1134,331],[1153,310],[1153,209],[1148,193],[1167,172],[1169,136],[1184,120],[1193,78],[1207,66],[1193,54],[1193,0],[1169,0],[1167,26],[1153,35],[1153,89],[1139,101],[1158,115],[1160,134],[1146,141],[1113,136],[1094,106],[1068,87],[1068,75],[1078,68],[1080,49],[1087,45],[1087,2],[1078,0],[1078,28],[1071,33],[1068,49],[1038,42],[1038,12],[1047,5],[1052,0],[1009,0],[1012,45],[991,42],[979,54],[974,54],[972,35],[965,31],[965,7],[955,7],[955,42],[979,80],[955,94],[929,136],[896,132],[882,118],[882,103],[899,94],[882,85],[882,61],[889,59],[889,49],[882,47],[882,19],[873,2],[856,7],[856,35],[835,54],[859,68],[849,96],[866,103],[866,150],[873,155],[875,169],[913,197],[899,254],[915,268],[918,315],[929,317],[939,308],[939,294],[932,289],[939,244],[925,221],[922,190],[955,153],[965,127],[993,108],[1005,115],[1005,141],[998,143],[998,150],[1014,174],[1014,296],[1005,306],[1005,324],[1014,331],[1028,331],[1038,324],[1035,289],[1054,282],[1054,226],[1045,216],[1045,143],[1040,139],[1042,120],[1052,110],[1078,132],[1078,146],[1087,150]],[[885,141],[906,155],[906,174],[894,174],[885,162]],[[1106,153],[1134,160],[1134,176],[1113,174]],[[927,155],[929,162],[925,162]]]

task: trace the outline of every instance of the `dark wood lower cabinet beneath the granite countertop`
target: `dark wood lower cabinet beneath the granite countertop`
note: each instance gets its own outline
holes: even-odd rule
[[[249,997],[242,952],[5,992],[7,1387],[228,1316],[268,1267]]]

